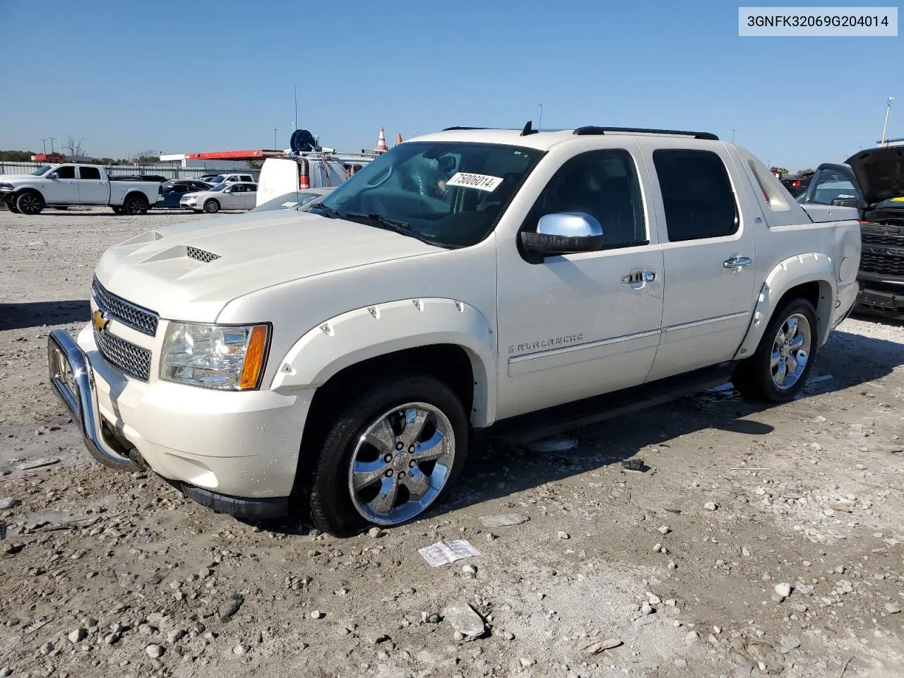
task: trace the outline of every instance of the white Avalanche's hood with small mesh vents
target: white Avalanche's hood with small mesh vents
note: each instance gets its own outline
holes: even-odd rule
[[[265,287],[441,251],[366,224],[279,210],[146,231],[104,252],[96,275],[162,318],[212,323],[232,299]]]

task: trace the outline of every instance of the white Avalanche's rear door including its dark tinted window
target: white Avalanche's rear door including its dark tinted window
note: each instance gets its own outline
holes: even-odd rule
[[[668,283],[650,381],[730,360],[738,350],[755,301],[757,225],[739,209],[723,149],[660,147],[652,159]]]

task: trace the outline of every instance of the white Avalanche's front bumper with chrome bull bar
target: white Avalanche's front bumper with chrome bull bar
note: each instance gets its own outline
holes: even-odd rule
[[[71,366],[68,378],[61,360]],[[217,511],[248,518],[287,513],[313,392],[213,391],[133,380],[103,359],[91,325],[77,340],[54,330],[48,363],[53,391],[95,456],[149,467]]]

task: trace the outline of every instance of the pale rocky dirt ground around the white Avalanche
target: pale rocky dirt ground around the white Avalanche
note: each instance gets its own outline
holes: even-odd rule
[[[904,325],[845,321],[792,403],[722,388],[494,448],[423,520],[337,540],[92,463],[48,389],[101,251],[189,219],[0,211],[0,677],[904,674]],[[452,539],[480,555],[419,554]]]

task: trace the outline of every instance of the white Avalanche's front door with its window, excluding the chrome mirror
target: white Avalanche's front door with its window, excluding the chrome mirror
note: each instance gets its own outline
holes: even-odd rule
[[[664,268],[637,154],[607,148],[570,158],[522,227],[535,231],[543,214],[585,212],[602,226],[602,250],[529,263],[515,243],[498,243],[498,419],[633,386],[650,371]]]

